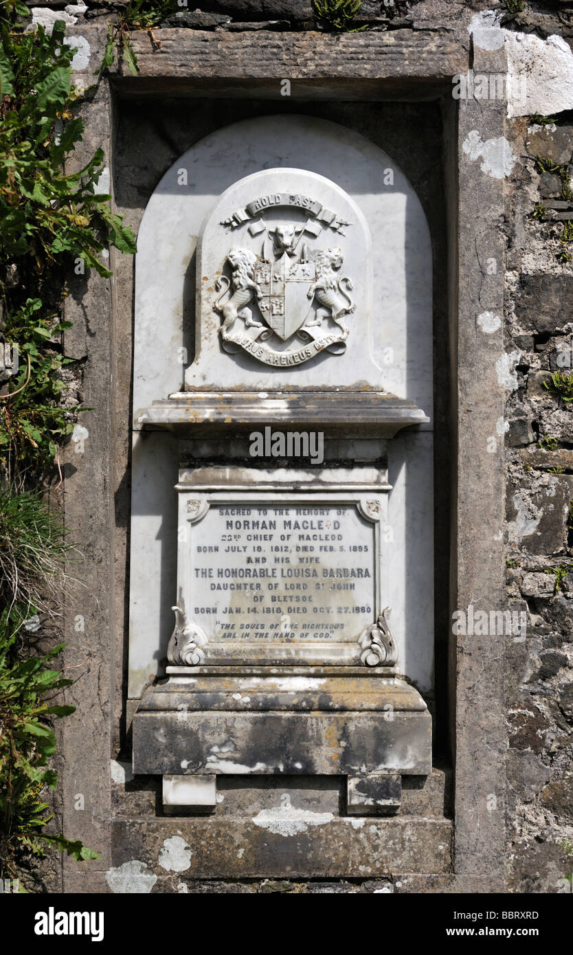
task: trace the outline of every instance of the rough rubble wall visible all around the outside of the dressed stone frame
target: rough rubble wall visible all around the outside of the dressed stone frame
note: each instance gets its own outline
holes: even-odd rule
[[[87,7],[36,0],[32,14],[35,22],[47,24],[65,19],[88,35],[94,26],[114,22],[123,6],[124,0],[95,0]],[[364,0],[358,23],[367,23],[370,31],[438,38],[455,32],[467,41],[471,17],[486,10],[498,11],[509,31],[541,39],[558,34],[573,48],[573,3],[562,0],[528,2],[514,12],[483,0],[395,0],[388,5]],[[317,29],[310,0],[202,0],[201,9],[182,9],[165,25],[219,32]],[[506,129],[518,160],[505,180],[509,396],[501,422],[507,454],[503,531],[508,605],[525,611],[527,630],[525,639],[500,639],[507,639],[507,888],[520,893],[559,891],[567,871],[560,842],[573,840],[573,402],[544,387],[552,371],[573,371],[573,263],[562,257],[569,249],[573,257],[573,243],[562,242],[564,223],[573,220],[573,202],[563,198],[571,170],[573,115],[558,112],[555,119],[554,124],[536,125],[528,117],[517,118],[509,120]],[[552,160],[564,172],[543,173],[538,157]],[[424,882],[424,890],[444,892],[456,884],[453,877],[436,876]],[[415,890],[415,885],[411,880],[407,890]],[[275,880],[204,881],[187,891],[400,889],[406,886],[392,880]],[[471,881],[466,881],[465,891],[472,891]]]

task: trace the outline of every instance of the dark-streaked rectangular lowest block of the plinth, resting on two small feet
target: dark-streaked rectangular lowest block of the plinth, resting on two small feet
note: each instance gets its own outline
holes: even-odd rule
[[[180,714],[179,714],[180,715]],[[292,713],[139,711],[134,773],[145,775],[355,775],[395,769],[427,775],[426,712]],[[158,741],[161,745],[158,745]]]

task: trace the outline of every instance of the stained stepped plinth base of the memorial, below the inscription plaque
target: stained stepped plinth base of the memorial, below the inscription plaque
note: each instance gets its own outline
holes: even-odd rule
[[[384,814],[431,773],[430,714],[391,668],[170,669],[134,716],[138,775],[346,775],[349,812]]]

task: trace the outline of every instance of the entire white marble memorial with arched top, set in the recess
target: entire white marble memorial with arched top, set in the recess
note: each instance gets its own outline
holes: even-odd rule
[[[159,670],[133,742],[163,814],[215,825],[222,777],[255,802],[260,777],[262,812],[269,778],[336,777],[338,827],[431,774],[432,302],[414,189],[340,124],[225,126],[148,202],[130,696]]]

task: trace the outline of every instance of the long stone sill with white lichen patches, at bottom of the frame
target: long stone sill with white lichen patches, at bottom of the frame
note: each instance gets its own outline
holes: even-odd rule
[[[121,820],[112,823],[110,875],[117,885],[138,859],[137,875],[151,878],[156,893],[177,891],[178,882],[190,879],[445,873],[451,866],[451,840],[448,819],[350,819],[292,807],[245,819]]]

